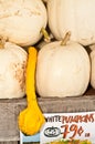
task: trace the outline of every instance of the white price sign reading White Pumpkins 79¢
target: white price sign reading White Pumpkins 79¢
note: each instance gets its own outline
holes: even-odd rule
[[[88,140],[95,144],[95,112],[44,114],[41,144],[60,140]]]

